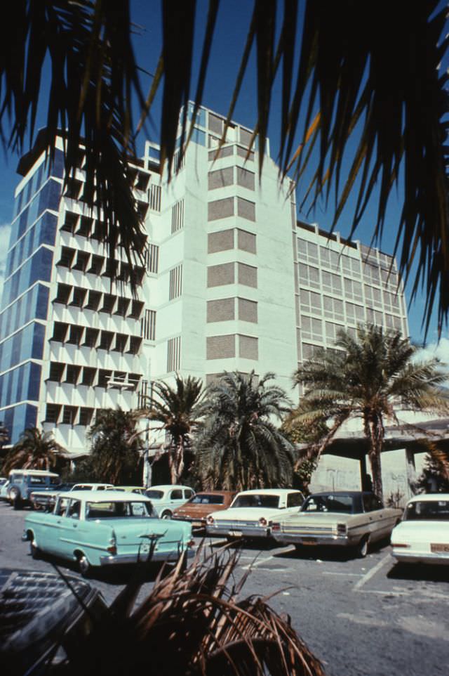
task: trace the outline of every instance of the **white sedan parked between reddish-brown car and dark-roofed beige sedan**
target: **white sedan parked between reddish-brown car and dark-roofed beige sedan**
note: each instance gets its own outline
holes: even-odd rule
[[[304,495],[293,488],[260,488],[237,493],[229,509],[208,514],[206,533],[238,538],[269,538],[273,519],[297,512]]]

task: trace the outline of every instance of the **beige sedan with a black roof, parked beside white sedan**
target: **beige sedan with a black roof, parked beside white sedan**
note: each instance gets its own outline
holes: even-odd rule
[[[272,536],[298,548],[351,547],[363,558],[370,544],[389,538],[401,515],[402,509],[384,507],[369,491],[332,490],[309,495],[299,512],[276,519]]]

